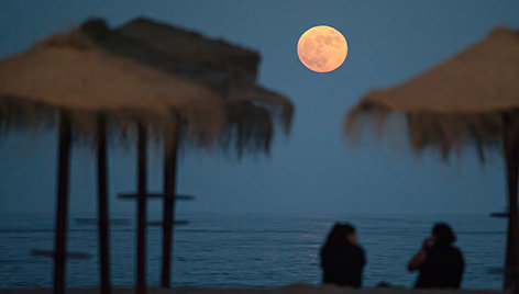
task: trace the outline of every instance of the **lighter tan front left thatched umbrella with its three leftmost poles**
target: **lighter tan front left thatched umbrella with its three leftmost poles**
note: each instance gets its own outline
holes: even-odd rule
[[[99,49],[80,30],[52,36],[0,61],[1,132],[52,126],[59,116],[54,289],[64,291],[68,169],[74,138],[96,143],[102,292],[109,291],[107,133],[139,136],[139,240],[145,224],[146,133],[162,137],[180,115],[210,143],[225,124],[212,91]],[[135,126],[136,129],[135,129]],[[166,138],[165,138],[166,139]],[[139,251],[144,244],[139,242]],[[142,256],[143,257],[143,256]],[[139,259],[144,270],[144,261]],[[140,276],[143,276],[141,272]],[[142,280],[144,281],[144,280]],[[137,283],[141,287],[143,283]]]

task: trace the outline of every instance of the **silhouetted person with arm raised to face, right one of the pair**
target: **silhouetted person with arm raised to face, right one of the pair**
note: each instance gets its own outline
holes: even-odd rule
[[[460,287],[465,262],[460,249],[452,246],[455,240],[448,224],[434,225],[432,236],[423,240],[420,250],[407,264],[409,271],[419,270],[415,287]]]

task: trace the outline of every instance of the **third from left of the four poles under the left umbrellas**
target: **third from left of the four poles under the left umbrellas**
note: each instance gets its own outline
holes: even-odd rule
[[[146,293],[146,126],[139,124],[136,293]]]

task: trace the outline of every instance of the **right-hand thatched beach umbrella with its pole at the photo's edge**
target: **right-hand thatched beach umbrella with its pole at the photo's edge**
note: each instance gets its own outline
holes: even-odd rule
[[[484,147],[503,144],[508,177],[508,240],[505,289],[519,282],[517,184],[519,160],[519,34],[495,30],[482,42],[394,88],[367,93],[347,115],[350,134],[362,116],[378,123],[393,112],[407,117],[416,151],[451,150],[474,143],[484,161]]]

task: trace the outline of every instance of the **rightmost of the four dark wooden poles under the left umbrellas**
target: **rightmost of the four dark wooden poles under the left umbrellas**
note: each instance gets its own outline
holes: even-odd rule
[[[172,122],[172,127],[164,134],[164,207],[163,207],[163,260],[162,260],[162,287],[170,287],[172,280],[172,251],[173,251],[173,224],[175,219],[175,190],[177,151],[179,143],[180,122],[178,117]]]

